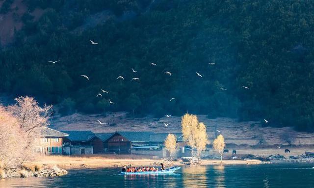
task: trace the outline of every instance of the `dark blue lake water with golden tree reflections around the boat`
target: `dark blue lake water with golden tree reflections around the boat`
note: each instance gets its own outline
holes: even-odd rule
[[[120,168],[69,170],[62,177],[7,179],[0,188],[314,188],[314,164],[183,167],[170,175],[119,175]]]

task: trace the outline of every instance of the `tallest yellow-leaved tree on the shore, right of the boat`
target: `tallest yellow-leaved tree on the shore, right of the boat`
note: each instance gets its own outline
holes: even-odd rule
[[[188,146],[191,147],[191,155],[192,155],[192,163],[193,163],[193,155],[194,149],[196,148],[196,140],[195,135],[197,132],[197,126],[199,122],[196,115],[193,114],[184,114],[181,119],[181,127],[183,140],[187,143]]]

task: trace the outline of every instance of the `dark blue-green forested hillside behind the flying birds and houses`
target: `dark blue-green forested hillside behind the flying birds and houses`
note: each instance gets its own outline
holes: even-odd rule
[[[314,131],[311,0],[25,2],[45,13],[38,21],[25,13],[2,47],[0,92],[59,104],[64,115],[188,111]],[[88,27],[106,10],[110,18]]]

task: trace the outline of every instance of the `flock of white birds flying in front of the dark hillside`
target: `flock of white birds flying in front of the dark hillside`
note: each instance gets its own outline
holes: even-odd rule
[[[94,42],[94,41],[92,41],[92,40],[89,40],[90,42],[91,42],[91,44],[92,45],[98,45],[98,43],[96,43],[96,42]],[[48,62],[50,62],[50,63],[52,63],[52,64],[55,64],[56,62],[59,62],[59,61],[61,61],[61,60],[57,60],[57,61],[48,61]],[[152,65],[152,66],[157,66],[157,64],[156,63],[153,63],[153,62],[150,62],[150,64]],[[209,65],[215,65],[215,63],[209,63]],[[133,68],[131,68],[131,70],[133,71],[133,73],[137,73],[137,71],[135,71]],[[169,71],[166,71],[166,72],[164,72],[164,74],[167,74],[167,75],[169,75],[169,76],[171,76],[171,72],[169,72]],[[203,76],[200,74],[200,73],[198,73],[198,72],[196,72],[196,75],[198,76],[198,77],[200,77],[200,78],[203,78]],[[87,79],[88,81],[89,81],[89,78],[88,78],[88,76],[86,76],[86,75],[80,75],[81,77],[83,77],[83,78],[85,78],[85,79]],[[116,80],[119,80],[119,79],[121,79],[121,80],[124,80],[124,77],[123,76],[118,76],[117,78],[116,78]],[[139,81],[139,78],[137,78],[137,77],[135,77],[135,78],[132,78],[131,79],[131,81]],[[242,85],[242,87],[244,88],[244,89],[250,89],[249,87],[247,87],[247,86],[244,86],[244,85]],[[223,87],[219,87],[221,90],[227,90],[227,89],[225,89],[225,88],[223,88]],[[104,89],[101,89],[101,91],[103,92],[103,93],[109,93],[108,91],[105,91]],[[103,95],[101,94],[101,93],[98,93],[97,95],[96,95],[96,97],[103,97]],[[173,100],[176,100],[175,98],[171,98],[170,99],[170,102],[171,101],[173,101]],[[113,105],[114,103],[112,102],[112,101],[110,101],[110,99],[108,99],[108,102],[109,102],[109,104],[111,105]],[[171,115],[168,115],[168,114],[165,114],[165,116],[166,117],[171,117]],[[101,121],[99,121],[99,120],[97,120],[98,121],[98,123],[99,124],[105,124],[105,123],[103,123],[103,122],[101,122]],[[268,120],[266,120],[266,119],[264,119],[264,122],[265,123],[268,123],[269,121]],[[163,125],[165,126],[165,127],[168,127],[168,125],[170,125],[170,123],[164,123],[163,122]],[[218,131],[218,130],[216,130],[218,133],[220,133],[220,131]],[[279,147],[280,148],[280,147]]]

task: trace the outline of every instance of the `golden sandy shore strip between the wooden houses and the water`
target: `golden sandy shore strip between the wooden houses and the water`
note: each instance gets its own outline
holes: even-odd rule
[[[69,156],[45,156],[38,157],[30,163],[41,163],[45,165],[58,165],[61,168],[101,168],[114,167],[123,165],[133,166],[149,166],[164,162],[170,165],[169,161],[147,159],[144,156],[85,156],[85,157],[69,157]],[[223,164],[257,164],[261,161],[242,161],[242,160],[223,160]],[[202,160],[201,165],[217,165],[220,160]],[[185,165],[181,161],[174,161],[173,165]]]

